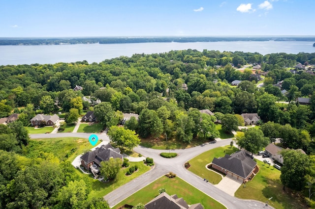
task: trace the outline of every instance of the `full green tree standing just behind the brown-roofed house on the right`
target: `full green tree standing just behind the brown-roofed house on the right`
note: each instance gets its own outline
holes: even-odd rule
[[[259,152],[263,147],[266,147],[269,139],[264,137],[264,134],[259,129],[247,129],[244,131],[244,137],[239,138],[236,142],[241,148],[253,153]]]

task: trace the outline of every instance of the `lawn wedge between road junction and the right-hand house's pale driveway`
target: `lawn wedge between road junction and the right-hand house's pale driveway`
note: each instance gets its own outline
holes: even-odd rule
[[[210,183],[217,184],[222,180],[221,175],[213,171],[209,171],[206,168],[206,165],[212,162],[214,157],[223,157],[225,154],[232,154],[235,151],[237,151],[237,148],[225,146],[204,152],[189,160],[189,164],[191,165],[191,167],[189,167],[189,171],[201,178],[206,178]]]

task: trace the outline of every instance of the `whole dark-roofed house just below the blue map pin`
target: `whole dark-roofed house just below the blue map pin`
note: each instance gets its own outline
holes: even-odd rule
[[[95,173],[99,172],[101,167],[101,161],[107,161],[109,158],[121,158],[123,160],[123,155],[120,154],[119,148],[114,148],[111,144],[102,145],[97,147],[94,151],[87,152],[80,157],[81,165],[87,170],[93,168]]]

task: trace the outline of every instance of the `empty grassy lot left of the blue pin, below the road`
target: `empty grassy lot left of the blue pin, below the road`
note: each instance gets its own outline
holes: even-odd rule
[[[67,159],[72,162],[75,157],[92,148],[93,146],[88,139],[76,137],[48,138],[30,140],[30,144],[23,149],[23,152],[26,157],[38,157],[41,152],[51,153],[60,160]]]

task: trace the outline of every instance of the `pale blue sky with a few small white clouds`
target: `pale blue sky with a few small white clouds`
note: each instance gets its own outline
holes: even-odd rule
[[[0,37],[313,35],[315,0],[0,0]]]

